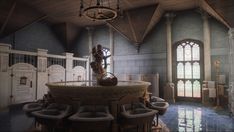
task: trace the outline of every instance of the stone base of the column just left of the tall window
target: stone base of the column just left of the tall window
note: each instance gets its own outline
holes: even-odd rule
[[[164,99],[170,103],[175,103],[174,93],[174,83],[166,83],[164,87]]]

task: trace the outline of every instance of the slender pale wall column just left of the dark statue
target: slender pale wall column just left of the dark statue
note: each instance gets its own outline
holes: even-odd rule
[[[88,62],[92,62],[93,60],[93,56],[92,56],[92,48],[93,48],[93,28],[92,27],[87,27],[86,28],[88,30],[88,44],[89,44],[89,61]],[[93,79],[93,71],[92,69],[90,68],[89,66],[89,69],[87,69],[89,71],[89,77],[88,79],[89,80],[92,80]]]

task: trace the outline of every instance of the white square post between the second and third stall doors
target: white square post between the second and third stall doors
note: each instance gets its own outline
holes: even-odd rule
[[[64,53],[66,56],[65,81],[73,81],[73,53]]]

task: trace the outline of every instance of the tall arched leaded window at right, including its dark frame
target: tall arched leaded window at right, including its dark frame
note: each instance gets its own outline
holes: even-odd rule
[[[202,43],[186,39],[173,46],[174,83],[177,99],[201,99]]]

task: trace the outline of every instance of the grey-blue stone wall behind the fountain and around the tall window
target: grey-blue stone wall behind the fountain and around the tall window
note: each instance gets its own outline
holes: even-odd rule
[[[175,12],[176,16],[172,21],[172,44],[183,39],[203,39],[203,19],[202,15],[195,10]],[[228,82],[228,29],[212,17],[209,18],[211,30],[211,63],[216,58],[221,61],[221,73],[226,74]],[[82,52],[82,56],[88,55],[84,51],[87,47],[86,31],[83,37],[77,42],[77,52]],[[85,44],[86,43],[86,44]],[[107,26],[96,27],[93,31],[93,44],[100,43],[105,47],[109,45],[109,29]],[[82,48],[83,47],[83,48]],[[167,46],[166,46],[166,20],[164,17],[146,36],[139,53],[134,43],[126,37],[114,31],[114,72],[117,74],[156,74],[160,78],[160,95],[163,95],[163,86],[166,83],[167,75]],[[205,51],[204,51],[205,52]],[[214,69],[212,69],[212,79],[215,79]]]

